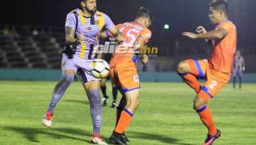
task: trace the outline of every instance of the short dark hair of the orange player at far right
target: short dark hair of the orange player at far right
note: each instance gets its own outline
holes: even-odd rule
[[[212,9],[223,11],[224,14],[229,14],[229,4],[227,0],[212,0],[210,7],[212,7]]]

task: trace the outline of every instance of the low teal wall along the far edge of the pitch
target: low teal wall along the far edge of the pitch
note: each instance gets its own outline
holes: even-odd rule
[[[181,82],[177,73],[139,73],[142,82]],[[61,70],[57,69],[0,69],[0,80],[52,80],[61,78]],[[245,83],[256,83],[256,73],[246,73]]]

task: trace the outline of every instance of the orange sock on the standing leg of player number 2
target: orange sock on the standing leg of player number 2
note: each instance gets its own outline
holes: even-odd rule
[[[210,109],[207,106],[205,106],[205,107],[202,107],[201,109],[197,110],[197,113],[200,115],[201,121],[207,126],[208,133],[211,136],[216,135],[217,128],[213,123],[212,113],[211,113]]]

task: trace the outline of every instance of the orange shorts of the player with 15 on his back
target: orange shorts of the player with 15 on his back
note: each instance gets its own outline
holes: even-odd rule
[[[137,68],[134,63],[119,63],[110,68],[109,75],[113,84],[120,87],[123,92],[140,88]]]

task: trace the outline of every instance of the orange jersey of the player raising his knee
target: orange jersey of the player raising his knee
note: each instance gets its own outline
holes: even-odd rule
[[[225,21],[218,28],[224,28],[228,34],[219,42],[213,41],[210,67],[219,73],[230,73],[236,52],[236,26],[231,21]]]

